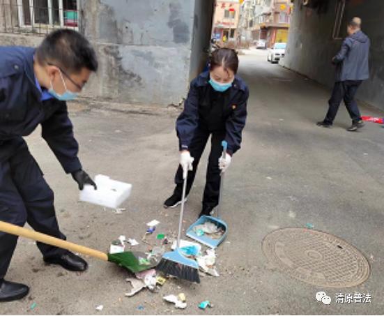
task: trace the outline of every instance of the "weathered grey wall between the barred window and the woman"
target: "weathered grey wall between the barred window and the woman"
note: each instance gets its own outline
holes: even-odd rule
[[[194,0],[81,0],[80,29],[100,59],[86,93],[124,103],[178,103],[190,79],[194,5]]]

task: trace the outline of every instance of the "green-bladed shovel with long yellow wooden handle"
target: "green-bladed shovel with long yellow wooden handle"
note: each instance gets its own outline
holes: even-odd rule
[[[26,228],[9,224],[0,220],[0,232],[6,232],[16,236],[22,236],[34,241],[40,241],[50,246],[70,250],[74,253],[82,253],[83,255],[89,255],[103,261],[114,262],[118,266],[122,266],[128,269],[132,273],[137,273],[154,268],[158,264],[158,260],[154,257],[147,259],[145,253],[125,251],[124,253],[102,253],[99,250],[87,248],[77,245],[76,243],[70,243],[63,239],[58,239],[40,232],[34,232],[33,230],[27,230]]]

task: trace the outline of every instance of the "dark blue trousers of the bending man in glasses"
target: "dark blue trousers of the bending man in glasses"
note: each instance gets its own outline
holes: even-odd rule
[[[54,193],[28,149],[17,151],[0,162],[0,220],[14,225],[25,223],[37,232],[66,239],[61,234],[54,211]],[[17,236],[0,232],[0,279],[6,275]],[[66,250],[37,243],[44,257]]]

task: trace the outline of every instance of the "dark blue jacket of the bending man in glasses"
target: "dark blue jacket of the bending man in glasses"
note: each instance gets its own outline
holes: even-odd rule
[[[0,46],[0,162],[26,149],[23,136],[42,127],[42,136],[63,169],[82,168],[77,158],[79,146],[73,137],[67,105],[57,99],[40,101],[36,87],[31,47]]]

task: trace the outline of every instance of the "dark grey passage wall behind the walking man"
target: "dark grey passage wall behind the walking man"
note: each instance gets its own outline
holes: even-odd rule
[[[295,0],[286,56],[281,62],[286,68],[332,86],[334,68],[330,63],[341,46],[341,40],[332,39],[336,17],[336,2],[318,10],[300,6]],[[362,18],[362,31],[371,38],[371,78],[362,84],[358,98],[384,109],[384,1],[349,0],[346,2],[342,35],[346,36],[345,23],[353,16]]]

